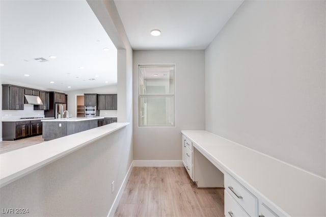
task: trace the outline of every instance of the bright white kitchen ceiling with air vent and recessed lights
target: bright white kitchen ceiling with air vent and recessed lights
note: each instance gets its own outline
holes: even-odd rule
[[[65,92],[117,83],[117,49],[85,0],[0,0],[0,14],[3,84]]]

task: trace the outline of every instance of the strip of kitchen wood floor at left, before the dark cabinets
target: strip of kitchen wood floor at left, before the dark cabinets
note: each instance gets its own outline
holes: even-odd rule
[[[0,154],[6,153],[8,151],[13,151],[19,148],[24,148],[31,145],[36,145],[44,142],[42,135],[37,135],[36,137],[30,137],[15,141],[1,141],[0,142]]]

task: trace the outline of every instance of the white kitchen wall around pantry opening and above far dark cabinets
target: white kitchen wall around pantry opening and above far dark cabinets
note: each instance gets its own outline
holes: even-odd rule
[[[76,91],[69,91],[66,92],[68,95],[68,112],[69,116],[77,117],[76,115],[76,107],[77,107],[77,95],[84,95],[84,93],[98,93],[98,94],[116,94],[118,93],[117,85],[108,85],[99,88],[92,88],[92,89],[84,89],[84,90],[76,90]]]

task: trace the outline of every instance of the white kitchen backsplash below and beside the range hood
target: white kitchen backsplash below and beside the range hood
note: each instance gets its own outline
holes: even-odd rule
[[[43,110],[34,110],[34,105],[24,104],[24,110],[3,110],[1,120],[12,120],[27,117],[44,117]]]

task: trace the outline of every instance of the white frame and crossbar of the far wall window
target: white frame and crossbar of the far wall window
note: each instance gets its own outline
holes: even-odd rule
[[[139,78],[140,78],[140,67],[141,66],[173,66],[174,67],[174,93],[173,94],[160,94],[160,95],[154,95],[154,94],[140,94],[140,82],[139,82]],[[138,64],[138,74],[137,74],[137,91],[138,91],[138,127],[176,127],[176,64]],[[173,121],[173,125],[171,124],[167,124],[167,125],[141,125],[141,98],[142,97],[162,97],[162,98],[167,98],[167,97],[172,97],[174,100],[174,121]]]

